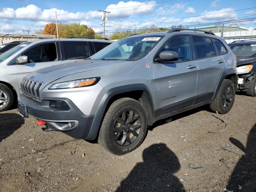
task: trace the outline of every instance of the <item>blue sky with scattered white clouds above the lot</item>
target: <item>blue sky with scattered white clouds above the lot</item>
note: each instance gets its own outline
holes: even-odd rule
[[[103,30],[100,9],[110,11],[106,30],[111,31],[139,29],[152,24],[168,27],[256,18],[255,0],[0,0],[0,4],[0,32],[6,33],[22,33],[22,30],[33,33],[55,22],[55,12],[61,23],[86,24],[100,32]],[[242,28],[256,28],[255,19],[237,24]]]

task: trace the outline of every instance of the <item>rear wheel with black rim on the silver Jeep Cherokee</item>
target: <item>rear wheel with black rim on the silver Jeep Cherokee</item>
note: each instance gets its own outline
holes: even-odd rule
[[[214,112],[218,112],[220,114],[228,113],[233,104],[235,99],[235,84],[229,79],[224,79],[220,90],[212,104],[210,104],[210,108]]]

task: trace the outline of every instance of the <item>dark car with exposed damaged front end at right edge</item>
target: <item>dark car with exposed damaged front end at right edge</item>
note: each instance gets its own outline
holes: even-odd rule
[[[238,91],[256,96],[256,40],[234,41],[230,49],[236,54]]]

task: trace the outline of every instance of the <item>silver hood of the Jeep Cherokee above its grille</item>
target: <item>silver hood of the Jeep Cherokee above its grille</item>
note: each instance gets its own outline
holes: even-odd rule
[[[108,68],[110,66],[120,65],[126,62],[130,61],[79,60],[37,70],[36,72],[29,74],[27,78],[48,84],[54,80],[71,74],[96,70],[100,68]]]

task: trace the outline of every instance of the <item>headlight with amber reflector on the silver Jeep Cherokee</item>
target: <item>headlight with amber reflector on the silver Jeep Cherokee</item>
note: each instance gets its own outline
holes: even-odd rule
[[[50,86],[49,89],[69,89],[69,88],[93,86],[96,83],[98,83],[99,80],[100,80],[100,77],[94,77],[94,78],[60,82],[60,83],[53,84],[52,86]]]

